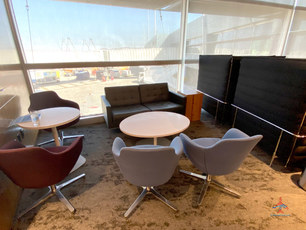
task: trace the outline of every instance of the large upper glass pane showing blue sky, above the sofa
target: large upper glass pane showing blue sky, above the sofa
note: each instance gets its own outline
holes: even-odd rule
[[[12,3],[27,63],[178,59],[181,12],[171,10],[180,1],[140,9],[31,0],[28,11]]]

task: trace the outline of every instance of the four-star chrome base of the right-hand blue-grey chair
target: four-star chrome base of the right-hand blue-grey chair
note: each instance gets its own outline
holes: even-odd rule
[[[241,197],[241,194],[237,193],[236,191],[230,189],[229,187],[215,181],[214,179],[211,178],[211,175],[210,174],[207,174],[206,176],[202,176],[202,175],[199,175],[199,174],[195,174],[195,173],[191,173],[191,172],[187,172],[187,171],[184,171],[184,170],[180,170],[180,172],[182,173],[185,173],[185,174],[188,174],[188,175],[191,175],[191,176],[194,176],[194,177],[197,177],[197,178],[200,178],[200,179],[203,179],[204,180],[204,185],[202,187],[202,190],[201,190],[201,193],[200,193],[200,197],[199,197],[199,200],[198,200],[198,205],[200,205],[203,201],[203,198],[204,198],[204,195],[206,193],[206,190],[208,188],[208,186],[210,184],[218,187],[218,189],[222,189],[222,190],[225,190],[235,196],[237,196],[238,198]]]

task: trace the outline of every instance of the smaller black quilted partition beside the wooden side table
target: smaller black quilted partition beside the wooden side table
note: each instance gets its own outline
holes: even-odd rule
[[[219,100],[217,118],[220,121],[229,118],[239,65],[240,57],[200,55],[197,90],[204,93],[202,108],[215,116]]]

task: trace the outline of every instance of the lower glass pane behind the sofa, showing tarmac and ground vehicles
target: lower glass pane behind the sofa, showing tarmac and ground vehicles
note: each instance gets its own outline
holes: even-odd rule
[[[53,90],[61,98],[80,105],[81,116],[102,113],[104,87],[168,82],[177,88],[177,65],[124,66],[106,68],[74,68],[30,70],[35,92]]]

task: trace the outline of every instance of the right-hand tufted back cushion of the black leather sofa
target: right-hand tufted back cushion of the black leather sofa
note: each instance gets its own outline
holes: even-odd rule
[[[139,85],[141,103],[169,101],[168,83],[153,83]]]

